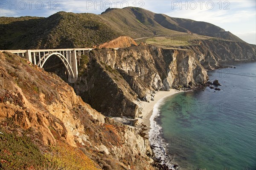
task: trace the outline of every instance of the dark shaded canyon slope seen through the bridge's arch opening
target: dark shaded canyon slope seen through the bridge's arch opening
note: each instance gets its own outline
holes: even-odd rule
[[[49,57],[49,59],[47,59],[47,61],[45,62],[43,68],[47,72],[57,74],[65,82],[69,83],[67,69],[65,68],[65,65],[58,56],[53,55]]]

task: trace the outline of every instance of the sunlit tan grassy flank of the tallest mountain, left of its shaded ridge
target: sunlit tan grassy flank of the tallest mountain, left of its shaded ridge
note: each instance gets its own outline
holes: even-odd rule
[[[154,21],[154,13],[142,8],[115,8],[103,12],[100,17],[116,31],[132,38],[156,35],[185,34],[164,28]]]

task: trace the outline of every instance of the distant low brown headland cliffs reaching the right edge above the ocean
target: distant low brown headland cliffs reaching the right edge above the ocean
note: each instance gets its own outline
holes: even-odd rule
[[[255,61],[256,45],[226,40],[192,40],[192,45],[179,48],[189,49],[197,54],[204,68],[218,68],[220,61]],[[177,48],[177,47],[176,47]]]

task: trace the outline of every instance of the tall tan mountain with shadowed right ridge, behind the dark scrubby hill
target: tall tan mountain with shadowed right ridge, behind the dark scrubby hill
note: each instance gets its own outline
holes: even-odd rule
[[[108,21],[116,21],[115,23],[120,25],[124,33],[132,38],[195,33],[244,42],[229,31],[225,31],[223,28],[211,23],[169,17],[165,14],[155,14],[143,8],[126,7],[122,9],[110,9],[103,12],[101,16]],[[118,27],[114,26],[115,23],[111,23],[112,26]],[[128,32],[125,32],[126,30]],[[129,33],[131,30],[132,34]]]

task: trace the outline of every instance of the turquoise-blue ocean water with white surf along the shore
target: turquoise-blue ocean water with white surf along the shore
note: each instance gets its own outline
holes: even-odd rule
[[[256,62],[233,66],[208,73],[221,91],[181,92],[155,105],[150,141],[163,162],[183,170],[256,170]]]

